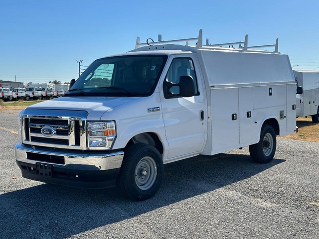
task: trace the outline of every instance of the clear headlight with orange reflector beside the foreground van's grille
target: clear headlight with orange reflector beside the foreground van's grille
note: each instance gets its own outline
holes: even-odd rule
[[[115,122],[88,121],[87,125],[89,149],[110,149],[116,136]]]

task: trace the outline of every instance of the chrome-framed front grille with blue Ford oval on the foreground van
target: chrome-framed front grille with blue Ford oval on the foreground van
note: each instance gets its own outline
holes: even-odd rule
[[[33,111],[25,110],[21,118],[24,144],[86,149],[86,112],[79,112],[79,115],[72,111],[53,111],[54,114],[51,115],[24,114],[25,112]],[[39,112],[42,110],[36,111]],[[43,110],[44,112],[50,113]],[[44,129],[48,129],[49,134],[46,134]]]

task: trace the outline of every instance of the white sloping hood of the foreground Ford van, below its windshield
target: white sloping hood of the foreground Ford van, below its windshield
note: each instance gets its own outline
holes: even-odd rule
[[[60,97],[34,104],[27,109],[86,111],[89,114],[88,119],[96,120],[105,112],[139,98],[141,97]]]

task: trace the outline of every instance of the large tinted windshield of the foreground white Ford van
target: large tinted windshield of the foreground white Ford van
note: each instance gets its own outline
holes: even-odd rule
[[[96,60],[65,96],[150,96],[166,59],[165,55],[132,55]]]

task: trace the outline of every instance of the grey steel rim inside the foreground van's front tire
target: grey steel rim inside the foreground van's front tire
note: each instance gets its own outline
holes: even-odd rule
[[[152,157],[142,158],[135,168],[135,183],[141,190],[150,189],[157,177],[156,162]]]

